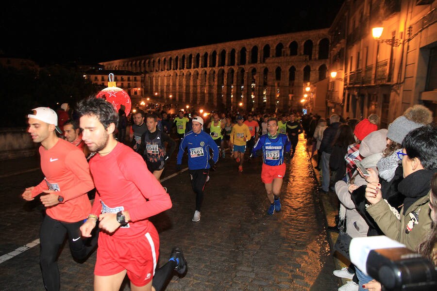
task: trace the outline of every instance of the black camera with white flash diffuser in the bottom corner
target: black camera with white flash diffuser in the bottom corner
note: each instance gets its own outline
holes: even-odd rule
[[[385,290],[437,290],[434,264],[387,236],[354,238],[349,254],[351,262],[380,282]]]

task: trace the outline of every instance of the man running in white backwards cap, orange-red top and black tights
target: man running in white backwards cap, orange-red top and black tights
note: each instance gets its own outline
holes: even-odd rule
[[[44,285],[49,291],[60,290],[57,258],[68,234],[68,244],[75,259],[84,260],[95,249],[97,235],[91,242],[82,240],[79,227],[91,210],[86,193],[94,188],[83,152],[59,138],[58,116],[47,107],[38,107],[28,115],[34,143],[41,143],[41,170],[45,178],[37,186],[26,188],[22,197],[31,201],[41,194],[46,207],[40,231],[40,264]],[[89,243],[89,244],[88,244]]]

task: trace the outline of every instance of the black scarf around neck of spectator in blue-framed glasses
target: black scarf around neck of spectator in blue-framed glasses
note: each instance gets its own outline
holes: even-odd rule
[[[428,194],[431,189],[431,178],[435,172],[436,170],[419,170],[399,182],[398,190],[405,196],[403,214],[414,202]]]

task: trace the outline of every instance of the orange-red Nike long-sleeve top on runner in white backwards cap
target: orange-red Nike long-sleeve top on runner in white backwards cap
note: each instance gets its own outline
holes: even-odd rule
[[[78,222],[88,217],[91,203],[86,193],[94,188],[94,183],[84,152],[58,139],[49,150],[40,146],[39,154],[45,178],[34,187],[32,197],[47,189],[59,191],[64,201],[47,208],[47,215],[64,222]]]

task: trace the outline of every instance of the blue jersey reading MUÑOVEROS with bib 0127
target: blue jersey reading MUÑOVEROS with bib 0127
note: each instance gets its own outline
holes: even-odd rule
[[[278,166],[284,162],[284,153],[290,151],[291,143],[285,134],[279,133],[275,139],[268,134],[261,135],[252,149],[253,155],[257,150],[263,150],[263,162],[269,166]]]

